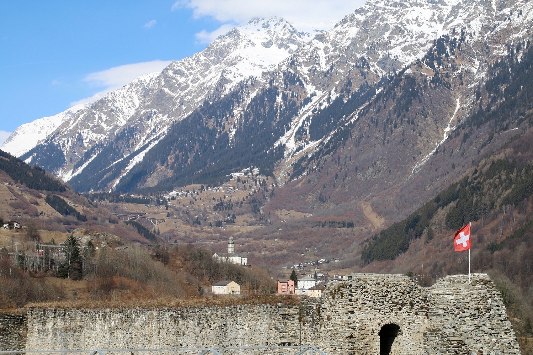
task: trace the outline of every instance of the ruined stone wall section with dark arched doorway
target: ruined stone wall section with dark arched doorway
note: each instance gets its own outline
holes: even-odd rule
[[[400,328],[391,355],[422,354],[430,324],[426,289],[402,275],[353,275],[328,285],[321,300],[304,309],[302,340],[327,354],[379,354],[378,333],[386,324]]]

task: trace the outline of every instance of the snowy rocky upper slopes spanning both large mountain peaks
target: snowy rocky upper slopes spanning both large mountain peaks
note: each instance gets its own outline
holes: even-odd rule
[[[466,98],[471,95],[467,90],[478,84],[482,79],[479,73],[488,66],[487,53],[504,53],[505,43],[521,34],[530,34],[530,24],[531,3],[526,0],[370,0],[346,15],[333,29],[313,39],[280,18],[252,20],[220,36],[204,51],[172,62],[159,74],[135,80],[63,122],[49,135],[49,142],[60,147],[67,162],[55,173],[68,180],[71,176],[83,176],[86,168],[98,172],[118,166],[112,173],[115,180],[110,183],[106,180],[107,186],[112,186],[156,146],[154,142],[163,138],[173,123],[205,102],[216,104],[243,79],[261,73],[263,76],[254,79],[254,84],[241,84],[250,90],[239,93],[246,97],[241,101],[243,106],[233,110],[236,120],[239,110],[261,88],[270,85],[273,78],[280,80],[274,84],[280,90],[286,87],[283,80],[288,77],[301,80],[303,90],[298,92],[297,100],[303,100],[305,95],[311,99],[292,118],[288,130],[277,138],[276,144],[285,144],[284,163],[289,165],[295,152],[320,149],[320,144],[311,141],[305,130],[296,134],[298,128],[312,124],[313,112],[327,107],[344,90],[353,92],[361,85],[369,87],[384,75],[422,59],[439,36],[457,37],[464,32],[468,42],[461,51],[465,55],[457,62],[458,67],[449,72],[465,75],[466,87],[457,88],[451,98],[454,103],[461,102],[459,117],[467,110]],[[479,76],[474,80],[476,73]],[[431,80],[429,74],[423,75]],[[442,117],[449,117],[448,114],[444,112]],[[443,122],[442,127],[440,124],[435,128],[439,141],[440,131],[444,132],[448,122]],[[127,139],[120,135],[126,131]],[[435,132],[431,133],[433,138]],[[234,131],[229,133],[231,138],[233,134]],[[330,134],[315,140],[327,139]],[[90,149],[97,143],[111,144],[122,155],[95,159],[100,146],[94,152]],[[426,143],[434,149],[438,142]],[[87,151],[91,155],[85,154]],[[33,159],[38,162],[39,151]]]

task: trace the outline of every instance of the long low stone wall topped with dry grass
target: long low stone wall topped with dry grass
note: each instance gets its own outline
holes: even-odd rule
[[[27,350],[278,345],[299,332],[297,306],[28,310]]]

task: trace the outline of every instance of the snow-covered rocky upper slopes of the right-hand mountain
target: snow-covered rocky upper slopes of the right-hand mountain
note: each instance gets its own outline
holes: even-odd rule
[[[463,75],[464,82],[470,82],[469,87],[455,92],[454,101],[461,101],[461,109],[454,115],[457,119],[469,109],[474,88],[486,76],[490,63],[498,55],[506,54],[507,44],[531,36],[532,6],[525,0],[369,0],[354,13],[346,15],[333,29],[317,35],[282,62],[282,67],[302,78],[309,94],[317,94],[313,102],[293,119],[289,131],[277,141],[286,146],[282,166],[290,166],[300,158],[302,151],[312,154],[321,149],[305,136],[297,141],[295,133],[307,116],[312,120],[310,112],[327,106],[348,80],[352,87],[375,83],[381,76],[422,59],[435,39],[442,35],[458,37],[464,34],[469,42],[462,49],[467,55],[462,56],[461,64],[451,73]],[[491,59],[485,61],[488,58]],[[447,132],[446,128],[444,125],[437,129]],[[440,140],[432,142],[439,143]],[[281,175],[284,173],[281,171]]]

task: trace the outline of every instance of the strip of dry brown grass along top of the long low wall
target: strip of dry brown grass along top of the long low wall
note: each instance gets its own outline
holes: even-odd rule
[[[203,306],[217,306],[227,307],[233,305],[259,305],[259,304],[288,304],[300,305],[300,298],[296,296],[249,296],[249,297],[235,297],[235,296],[219,296],[206,298],[171,298],[171,297],[155,297],[143,300],[128,300],[123,298],[110,296],[109,300],[105,301],[57,301],[57,302],[40,302],[28,303],[26,308],[56,308],[56,309],[107,309],[107,308],[181,308],[181,307],[203,307]]]

